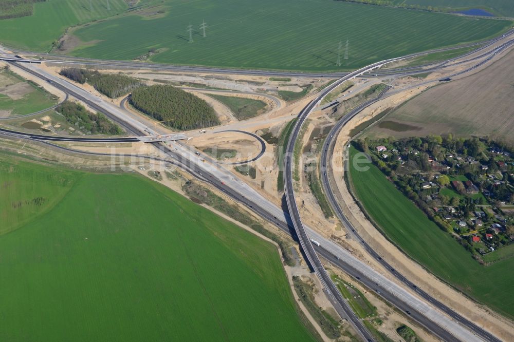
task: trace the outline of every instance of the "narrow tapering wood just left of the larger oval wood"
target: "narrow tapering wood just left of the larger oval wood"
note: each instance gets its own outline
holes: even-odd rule
[[[61,69],[60,74],[81,84],[87,82],[94,86],[96,90],[112,99],[119,98],[145,85],[144,82],[126,75],[104,74],[97,70],[65,68]]]

